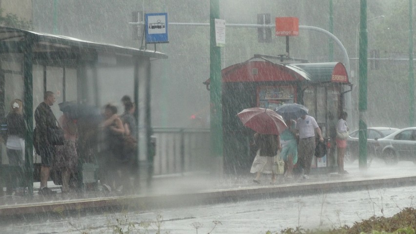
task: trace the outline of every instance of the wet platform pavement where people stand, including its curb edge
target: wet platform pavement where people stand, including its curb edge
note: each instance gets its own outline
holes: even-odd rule
[[[62,194],[52,197],[4,196],[0,197],[0,216],[43,212],[100,210],[111,207],[149,209],[173,205],[218,203],[238,199],[258,199],[270,196],[293,196],[319,191],[348,191],[374,187],[416,184],[416,166],[409,162],[387,167],[373,162],[367,170],[359,170],[358,163],[346,165],[347,175],[337,173],[312,174],[310,179],[286,179],[278,176],[270,184],[270,175],[253,183],[253,174],[211,175],[187,173],[185,175],[154,176],[150,186],[141,184],[135,195],[117,196],[103,191]],[[58,189],[58,188],[56,188]],[[59,190],[58,190],[59,191]]]

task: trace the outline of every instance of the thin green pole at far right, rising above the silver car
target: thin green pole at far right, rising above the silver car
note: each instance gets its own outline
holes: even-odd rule
[[[415,120],[415,78],[413,74],[413,0],[409,0],[409,127]]]

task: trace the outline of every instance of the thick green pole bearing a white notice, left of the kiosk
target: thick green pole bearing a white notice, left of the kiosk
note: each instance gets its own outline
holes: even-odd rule
[[[222,128],[222,84],[221,84],[221,49],[215,42],[215,19],[220,18],[219,0],[210,0],[209,28],[209,79],[210,79],[210,150],[214,170],[222,172],[223,164],[223,128]]]

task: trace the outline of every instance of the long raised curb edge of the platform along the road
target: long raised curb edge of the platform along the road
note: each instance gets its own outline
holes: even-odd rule
[[[377,178],[368,180],[313,182],[293,185],[271,185],[255,188],[223,189],[185,194],[131,195],[89,199],[59,200],[34,204],[7,205],[0,207],[0,217],[16,215],[39,215],[41,213],[103,212],[106,210],[148,210],[175,206],[192,206],[284,197],[321,192],[345,192],[380,187],[412,186],[416,176]],[[105,210],[104,210],[105,211]]]

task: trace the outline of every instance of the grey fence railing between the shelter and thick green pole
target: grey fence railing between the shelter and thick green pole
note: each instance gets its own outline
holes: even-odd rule
[[[153,136],[156,138],[154,175],[207,170],[208,128],[153,128]]]

